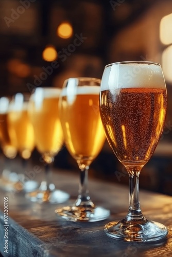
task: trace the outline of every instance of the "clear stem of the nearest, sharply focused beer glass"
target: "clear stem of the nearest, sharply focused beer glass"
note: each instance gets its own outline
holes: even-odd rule
[[[129,173],[129,210],[126,216],[127,221],[145,221],[140,207],[139,199],[139,175],[140,169],[137,168],[127,168]]]

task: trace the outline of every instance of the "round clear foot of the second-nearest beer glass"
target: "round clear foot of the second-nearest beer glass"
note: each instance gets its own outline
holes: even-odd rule
[[[55,210],[58,216],[72,222],[97,222],[109,217],[110,211],[100,206],[85,208],[77,206],[66,206]]]

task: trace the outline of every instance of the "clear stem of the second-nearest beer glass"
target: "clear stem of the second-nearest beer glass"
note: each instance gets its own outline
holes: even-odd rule
[[[94,208],[94,204],[89,196],[88,190],[88,171],[89,166],[80,168],[79,194],[75,206],[84,208]]]

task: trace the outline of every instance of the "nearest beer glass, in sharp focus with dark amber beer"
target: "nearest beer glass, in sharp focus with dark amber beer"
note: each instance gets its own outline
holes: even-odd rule
[[[117,240],[151,242],[166,236],[164,225],[148,221],[139,200],[139,174],[163,131],[167,105],[160,64],[119,62],[105,67],[100,86],[100,115],[108,142],[129,175],[129,210],[110,222],[105,233]]]

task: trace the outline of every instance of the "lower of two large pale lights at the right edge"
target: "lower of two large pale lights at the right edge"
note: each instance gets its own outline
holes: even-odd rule
[[[165,80],[172,82],[172,45],[167,47],[162,53],[162,69],[164,72]]]

